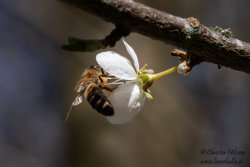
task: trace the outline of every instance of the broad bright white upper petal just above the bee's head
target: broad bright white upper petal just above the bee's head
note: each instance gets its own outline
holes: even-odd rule
[[[130,61],[112,51],[101,52],[96,55],[97,63],[108,73],[125,80],[135,80],[136,72]]]

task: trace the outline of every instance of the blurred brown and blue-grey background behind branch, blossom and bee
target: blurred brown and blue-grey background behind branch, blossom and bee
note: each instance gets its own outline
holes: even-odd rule
[[[138,0],[206,26],[230,27],[250,42],[250,1]],[[151,87],[154,100],[124,125],[112,125],[84,101],[65,115],[92,53],[61,49],[67,37],[102,39],[114,26],[57,0],[0,0],[0,166],[206,166],[201,149],[250,153],[250,77],[202,63],[183,77],[171,74]],[[173,46],[132,33],[126,41],[140,66],[156,72],[177,65]],[[128,56],[121,41],[113,50]],[[217,165],[208,165],[217,166]],[[220,166],[228,166],[227,164]]]

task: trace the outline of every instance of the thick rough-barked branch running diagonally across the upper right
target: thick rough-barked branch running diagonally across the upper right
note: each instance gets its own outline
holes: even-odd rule
[[[63,0],[104,20],[187,50],[191,59],[250,74],[250,44],[132,0]],[[198,64],[198,63],[197,63]]]

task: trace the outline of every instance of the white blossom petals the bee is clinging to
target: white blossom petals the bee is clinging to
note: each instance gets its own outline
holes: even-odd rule
[[[128,81],[108,96],[114,107],[114,115],[108,116],[107,120],[113,124],[123,124],[132,120],[145,102],[144,91],[137,84],[139,63],[136,53],[124,40],[123,43],[134,62],[135,70],[131,62],[118,53],[106,51],[96,55],[97,63],[105,71],[119,79]]]

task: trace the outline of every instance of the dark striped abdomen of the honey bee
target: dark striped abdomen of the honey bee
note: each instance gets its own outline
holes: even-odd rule
[[[105,116],[114,115],[114,109],[102,90],[95,84],[90,84],[85,90],[85,98],[99,113]]]

